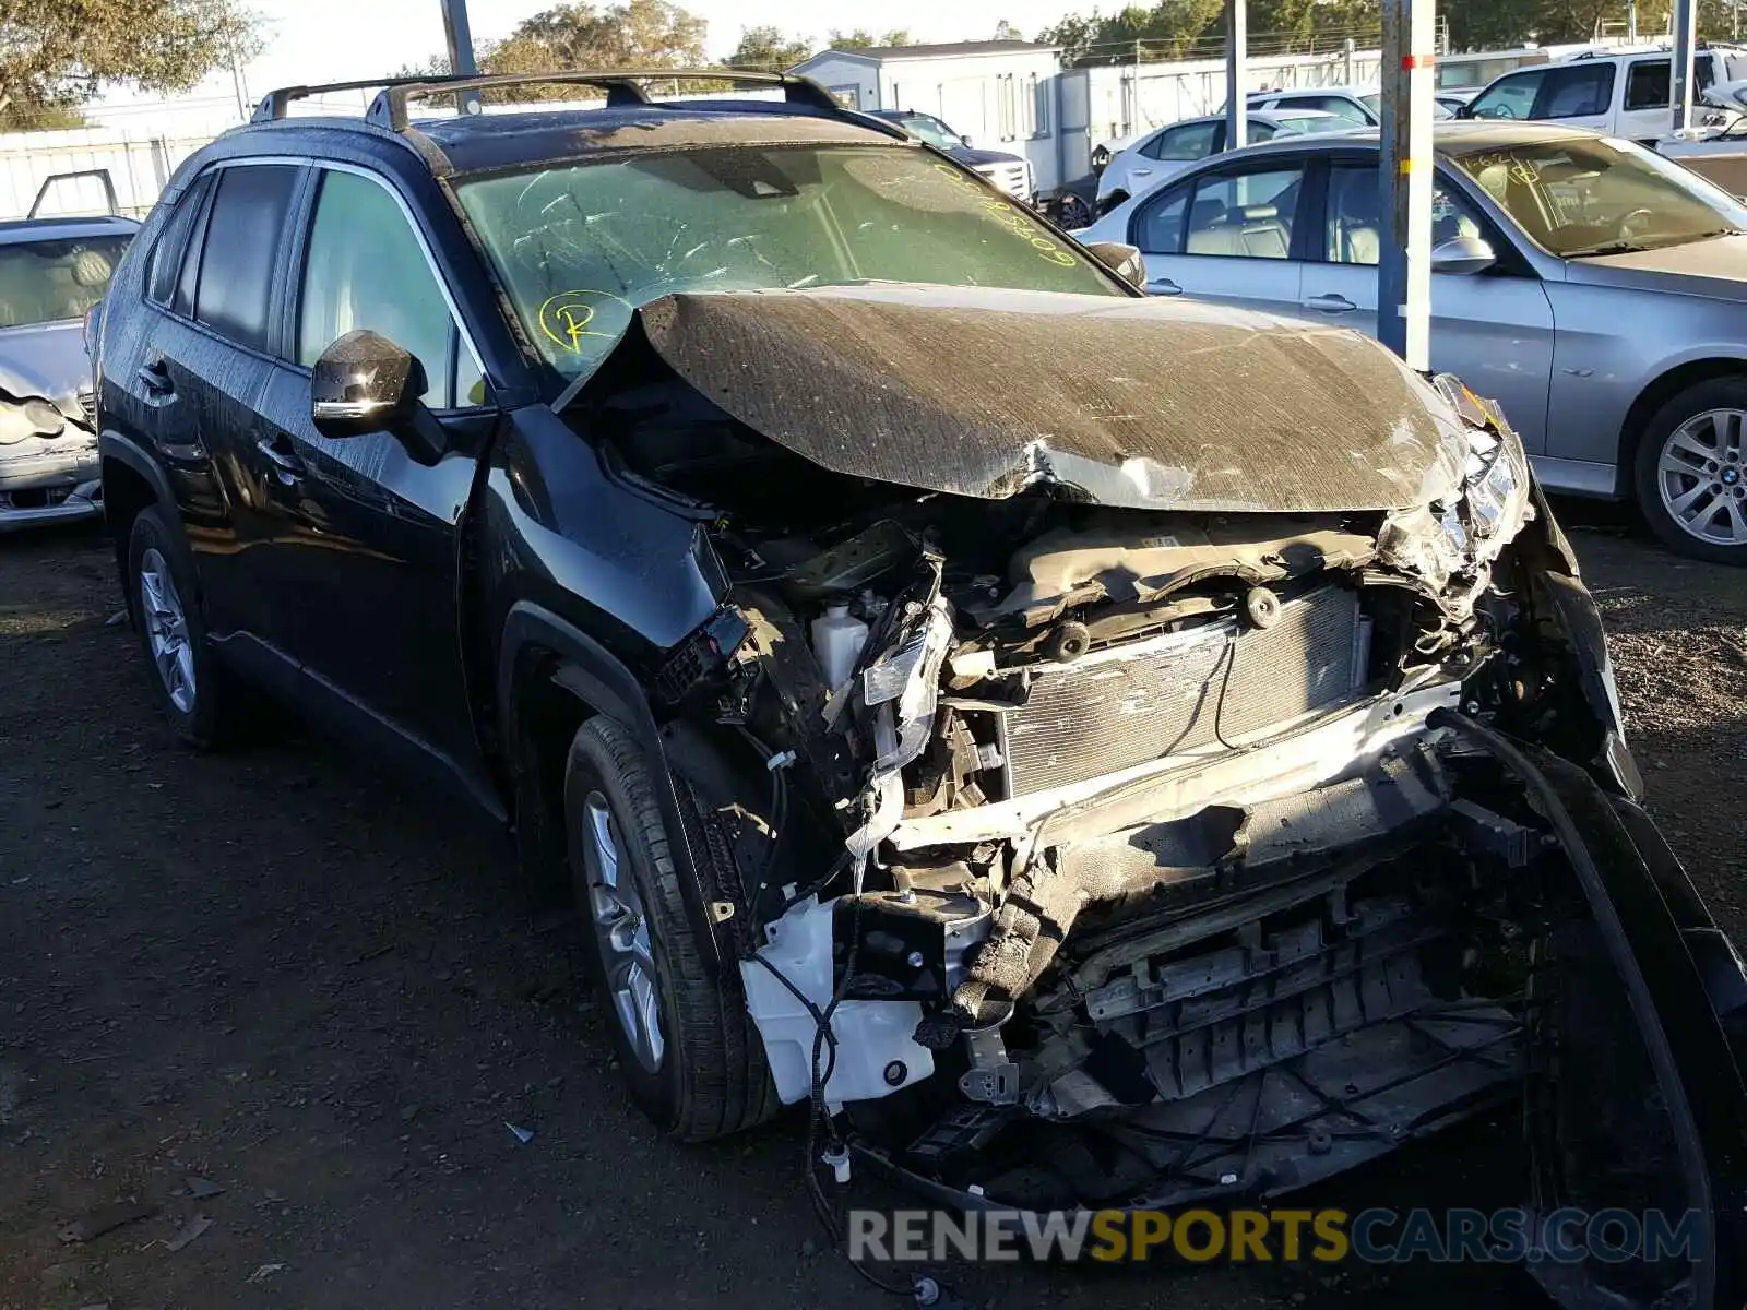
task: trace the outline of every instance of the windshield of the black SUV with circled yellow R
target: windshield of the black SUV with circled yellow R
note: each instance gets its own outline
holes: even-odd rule
[[[915,147],[648,152],[456,194],[528,335],[566,377],[674,292],[908,281],[1122,295],[1071,241]]]

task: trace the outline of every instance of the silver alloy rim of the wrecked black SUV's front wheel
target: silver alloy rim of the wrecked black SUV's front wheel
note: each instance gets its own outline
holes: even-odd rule
[[[618,824],[599,791],[590,791],[583,802],[583,823],[589,917],[601,947],[606,989],[638,1064],[653,1074],[660,1071],[667,1045],[660,1031],[660,987],[650,948],[648,915],[624,865]]]

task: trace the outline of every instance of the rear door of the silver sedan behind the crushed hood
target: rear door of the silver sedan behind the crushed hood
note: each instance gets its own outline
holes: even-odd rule
[[[1129,241],[1146,255],[1146,290],[1298,314],[1305,199],[1300,155],[1204,169],[1136,206]]]

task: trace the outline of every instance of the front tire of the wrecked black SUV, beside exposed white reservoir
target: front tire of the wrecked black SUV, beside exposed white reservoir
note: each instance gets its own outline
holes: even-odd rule
[[[678,777],[674,786],[708,896],[730,877],[711,852],[692,789]],[[592,718],[577,730],[564,769],[564,826],[577,908],[618,1065],[631,1099],[657,1127],[704,1142],[763,1123],[781,1102],[739,975],[711,976],[697,948],[655,796],[655,777],[627,728]],[[603,873],[601,823],[617,852],[611,879]],[[632,920],[638,927],[627,931]],[[617,933],[606,922],[617,924]],[[632,966],[652,971],[646,982],[653,985],[639,987]],[[659,1050],[648,1038],[652,1013]]]

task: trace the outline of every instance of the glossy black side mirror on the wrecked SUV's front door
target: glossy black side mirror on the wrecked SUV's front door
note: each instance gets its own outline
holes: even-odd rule
[[[332,440],[386,431],[419,463],[442,456],[442,428],[421,396],[425,365],[381,332],[356,328],[328,344],[309,372],[309,419]]]

